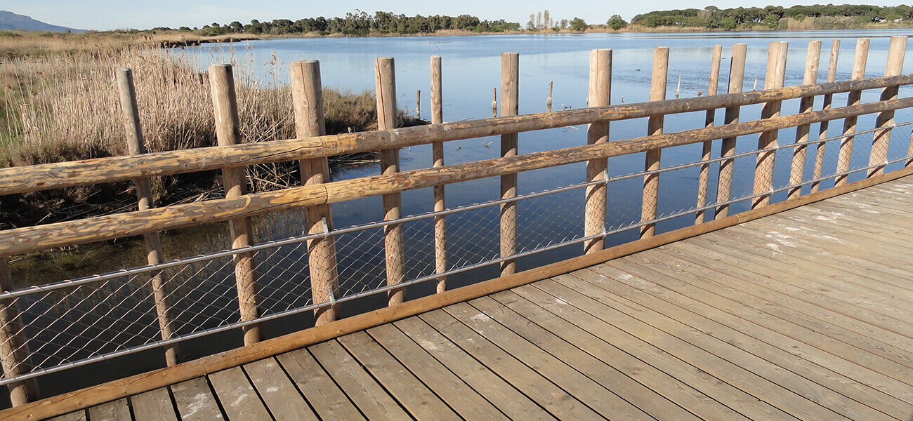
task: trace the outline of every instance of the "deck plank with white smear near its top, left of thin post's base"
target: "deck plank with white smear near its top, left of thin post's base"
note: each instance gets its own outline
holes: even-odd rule
[[[420,344],[438,362],[446,365],[467,385],[486,396],[492,405],[497,406],[510,419],[555,419],[543,407],[523,395],[514,386],[509,385],[503,378],[450,342],[425,321],[418,317],[410,317],[394,322],[394,325],[416,344]]]

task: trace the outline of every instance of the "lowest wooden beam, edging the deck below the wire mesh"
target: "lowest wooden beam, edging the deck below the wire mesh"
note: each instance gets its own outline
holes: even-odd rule
[[[770,121],[770,120],[768,120]],[[351,334],[364,329],[391,323],[415,314],[426,313],[453,303],[462,303],[488,294],[509,290],[520,285],[551,278],[562,273],[573,272],[635,252],[643,252],[674,241],[691,238],[707,232],[753,221],[774,213],[788,211],[799,206],[820,200],[833,198],[851,191],[875,186],[890,180],[913,175],[913,168],[898,169],[887,174],[878,175],[866,180],[854,181],[834,189],[821,190],[796,199],[785,200],[753,211],[745,211],[727,218],[709,221],[676,231],[664,232],[656,236],[631,241],[611,247],[600,252],[593,252],[561,262],[551,263],[525,272],[490,281],[479,282],[462,288],[428,295],[393,307],[385,307],[368,313],[347,317],[333,323],[305,329],[268,339],[257,344],[236,348],[220,354],[208,355],[171,367],[160,368],[141,375],[113,380],[103,385],[90,386],[62,395],[47,397],[23,406],[16,406],[0,411],[0,419],[5,421],[33,421],[51,416],[68,414],[89,406],[99,405],[121,397],[140,394],[159,387],[174,385],[201,375],[208,375],[238,365],[286,353],[310,344],[317,344],[344,334]]]

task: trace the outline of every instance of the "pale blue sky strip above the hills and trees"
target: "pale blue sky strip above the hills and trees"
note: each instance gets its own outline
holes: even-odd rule
[[[820,0],[805,4],[827,4]],[[856,0],[834,4],[898,5],[903,2],[870,2]],[[553,19],[579,16],[591,24],[604,23],[611,15],[624,19],[651,10],[717,5],[720,8],[771,5],[771,0],[644,0],[638,2],[578,0],[554,2],[546,0],[457,0],[427,2],[415,0],[377,0],[373,2],[333,0],[160,0],[134,2],[131,0],[0,0],[0,10],[8,10],[52,25],[80,29],[148,29],[154,26],[204,26],[213,22],[226,24],[233,20],[248,23],[251,19],[300,19],[319,15],[343,16],[360,9],[369,14],[383,10],[404,15],[477,15],[482,19],[504,18],[519,22],[529,20],[531,12],[549,9]],[[782,4],[793,5],[794,3]]]

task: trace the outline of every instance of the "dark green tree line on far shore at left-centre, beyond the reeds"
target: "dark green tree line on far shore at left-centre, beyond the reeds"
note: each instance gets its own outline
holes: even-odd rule
[[[249,24],[238,21],[221,25],[213,23],[202,28],[181,26],[182,31],[195,31],[203,36],[221,36],[226,34],[307,34],[317,32],[321,35],[344,34],[350,36],[367,36],[378,34],[430,34],[436,31],[456,29],[474,32],[503,32],[518,30],[519,24],[504,19],[480,20],[472,15],[434,15],[406,16],[390,12],[375,12],[368,15],[364,12],[347,13],[345,17],[306,17],[299,20],[275,19],[271,22],[251,20]],[[170,31],[173,28],[156,27],[153,31]]]

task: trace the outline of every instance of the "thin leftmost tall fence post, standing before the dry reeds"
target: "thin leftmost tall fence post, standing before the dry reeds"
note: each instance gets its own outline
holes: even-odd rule
[[[133,86],[133,72],[129,68],[121,68],[117,72],[117,85],[121,94],[121,109],[123,110],[124,125],[127,128],[127,151],[131,155],[146,153],[146,145],[142,138],[140,125],[140,111],[136,101],[136,89]],[[153,207],[152,189],[149,179],[133,180],[136,186],[136,198],[139,200],[140,211]],[[162,241],[158,232],[150,232],[142,236],[146,244],[146,262],[149,264],[162,263]],[[173,317],[171,313],[171,285],[164,281],[162,272],[155,272],[150,281],[152,297],[155,301],[155,313],[159,321],[159,332],[162,339],[171,339],[173,331]],[[171,366],[178,363],[177,344],[165,345],[165,364]]]

